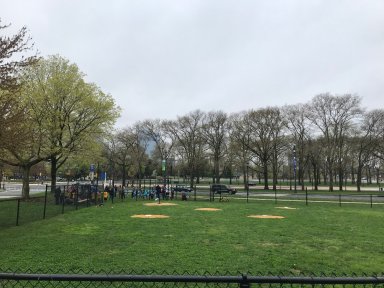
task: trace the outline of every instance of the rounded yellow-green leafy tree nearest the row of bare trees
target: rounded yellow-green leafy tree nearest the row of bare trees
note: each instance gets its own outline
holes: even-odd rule
[[[45,115],[42,129],[49,143],[54,187],[57,169],[73,153],[87,151],[112,127],[120,110],[111,95],[86,83],[77,65],[60,56],[41,60],[26,76],[33,113]]]

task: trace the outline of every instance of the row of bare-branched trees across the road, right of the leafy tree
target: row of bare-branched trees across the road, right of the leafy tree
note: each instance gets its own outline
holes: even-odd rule
[[[245,184],[249,169],[265,189],[276,189],[278,179],[295,175],[301,189],[311,180],[315,189],[327,183],[330,191],[342,190],[348,178],[360,190],[364,171],[380,172],[384,110],[364,111],[356,95],[325,93],[305,104],[232,115],[196,110],[176,120],[146,120],[114,133],[106,143],[124,184],[127,175],[162,175],[165,161],[190,185],[203,176],[220,182],[238,175]]]

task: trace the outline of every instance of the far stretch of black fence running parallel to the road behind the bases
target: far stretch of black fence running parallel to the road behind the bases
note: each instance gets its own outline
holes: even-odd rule
[[[156,186],[161,187],[161,192],[157,193]],[[218,184],[216,184],[218,185]],[[221,185],[228,188],[239,187],[239,185],[229,186]],[[327,192],[326,190],[315,191],[313,187],[307,187],[304,190],[294,189],[292,185],[277,186],[276,190],[264,190],[262,186],[248,186],[247,189],[239,189],[235,193],[233,191],[216,191],[212,190],[212,184],[199,184],[190,187],[187,183],[179,180],[169,180],[159,182],[156,179],[135,179],[131,181],[130,187],[126,188],[126,195],[130,198],[138,200],[193,200],[193,201],[257,201],[270,200],[278,202],[302,202],[306,205],[311,203],[330,203],[339,206],[346,204],[366,204],[370,207],[374,205],[384,204],[384,192],[382,188],[378,190],[367,190],[362,192],[345,193],[344,191]]]

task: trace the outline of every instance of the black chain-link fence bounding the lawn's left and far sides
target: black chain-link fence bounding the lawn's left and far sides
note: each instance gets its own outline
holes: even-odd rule
[[[260,191],[260,190],[242,190],[234,194],[220,192],[217,193],[210,189],[210,186],[194,187],[191,190],[184,191],[186,187],[175,189],[176,186],[170,186],[169,189],[156,191],[155,185],[142,185],[121,187],[116,186],[115,190],[105,191],[102,185],[91,184],[72,184],[58,185],[52,191],[51,186],[46,186],[44,195],[32,197],[30,199],[10,198],[0,201],[0,227],[10,227],[22,225],[24,223],[41,220],[49,217],[63,214],[65,212],[77,210],[92,205],[103,205],[105,201],[145,201],[158,200],[172,201],[243,201],[255,202],[259,200],[283,202],[302,202],[306,205],[313,203],[330,203],[339,206],[348,204],[366,204],[374,205],[384,204],[384,195],[382,193],[315,193],[308,192],[290,192],[290,191]],[[188,187],[189,188],[189,187]],[[114,200],[115,199],[115,200]]]

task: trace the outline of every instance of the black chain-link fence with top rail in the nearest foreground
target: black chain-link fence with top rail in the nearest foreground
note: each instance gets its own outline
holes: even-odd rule
[[[384,287],[383,274],[257,276],[261,274],[130,272],[80,271],[74,274],[46,274],[5,271],[0,272],[0,287]]]

